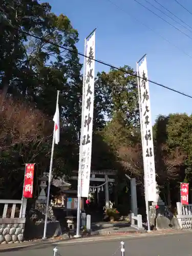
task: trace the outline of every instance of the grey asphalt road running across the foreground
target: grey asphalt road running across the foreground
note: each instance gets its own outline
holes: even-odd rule
[[[122,240],[125,242],[125,256],[192,256],[192,232]],[[120,241],[119,239],[62,243],[58,248],[61,256],[121,256],[118,249]],[[1,256],[53,256],[53,247],[39,245],[16,248],[12,251],[1,251]]]

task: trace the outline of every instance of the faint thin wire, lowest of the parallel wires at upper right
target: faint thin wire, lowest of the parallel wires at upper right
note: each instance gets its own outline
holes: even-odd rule
[[[141,20],[139,20],[138,18],[136,18],[135,16],[131,15],[130,12],[125,11],[123,8],[121,8],[120,6],[118,6],[117,4],[115,4],[114,2],[112,2],[111,0],[106,0],[108,1],[110,4],[114,5],[115,7],[117,7],[119,10],[121,10],[122,12],[126,13],[127,15],[129,15],[130,17],[134,18],[135,20],[137,20],[137,22],[141,23],[145,28],[151,30],[153,33],[155,33],[156,35],[158,35],[159,37],[161,37],[163,40],[167,41],[168,44],[174,46],[175,48],[177,48],[179,51],[181,51],[182,53],[184,53],[185,55],[187,55],[189,58],[192,58],[192,56],[188,53],[186,53],[185,51],[183,51],[183,49],[179,48],[178,46],[176,46],[173,42],[169,41],[167,38],[165,38],[164,36],[162,36],[161,34],[159,34],[157,31],[153,30],[151,27],[147,26],[145,23],[143,23]]]

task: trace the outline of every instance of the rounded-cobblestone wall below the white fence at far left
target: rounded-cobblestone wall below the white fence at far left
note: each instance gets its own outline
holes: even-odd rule
[[[0,219],[0,244],[23,242],[25,222],[25,218]]]

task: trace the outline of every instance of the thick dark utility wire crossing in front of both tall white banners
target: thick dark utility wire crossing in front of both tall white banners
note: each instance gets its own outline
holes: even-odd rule
[[[61,48],[61,49],[63,49],[63,50],[67,50],[67,51],[69,51],[69,52],[78,54],[78,55],[80,55],[80,56],[82,56],[82,57],[86,57],[86,58],[88,58],[88,59],[92,59],[92,60],[94,60],[95,62],[98,62],[98,63],[100,63],[100,64],[102,64],[102,65],[105,65],[105,66],[107,66],[107,67],[110,67],[110,68],[119,70],[119,71],[121,71],[121,72],[123,72],[123,73],[126,73],[126,74],[128,74],[128,75],[131,75],[131,76],[134,76],[134,77],[137,77],[137,78],[140,78],[140,79],[144,79],[144,80],[146,80],[146,81],[148,81],[148,82],[151,82],[151,83],[156,84],[157,86],[160,86],[160,87],[165,88],[165,89],[167,89],[167,90],[169,90],[169,91],[178,93],[178,94],[180,94],[180,95],[183,95],[183,96],[185,96],[185,97],[188,97],[188,98],[191,98],[191,99],[192,99],[192,96],[189,95],[189,94],[186,94],[186,93],[180,92],[180,91],[178,91],[178,90],[175,90],[175,89],[173,89],[173,88],[164,86],[163,84],[158,83],[158,82],[155,82],[155,81],[153,81],[153,80],[146,79],[146,78],[143,78],[143,77],[141,77],[141,76],[138,76],[138,75],[136,75],[135,72],[128,72],[128,71],[125,71],[125,70],[123,70],[123,69],[121,69],[121,68],[117,68],[117,67],[115,67],[115,66],[113,66],[113,65],[111,65],[111,64],[108,64],[108,63],[106,63],[106,62],[104,62],[104,61],[102,61],[102,60],[94,59],[94,58],[89,57],[89,56],[87,56],[87,55],[84,55],[83,53],[80,53],[80,52],[78,52],[78,51],[76,51],[76,50],[72,50],[72,49],[69,49],[69,48],[67,48],[67,47],[58,45],[58,44],[56,44],[55,42],[52,42],[52,41],[50,41],[50,40],[47,40],[46,38],[42,38],[42,37],[39,37],[39,36],[37,36],[37,35],[33,35],[33,34],[29,33],[29,32],[26,32],[26,31],[24,31],[24,30],[22,30],[22,29],[18,29],[18,28],[14,27],[14,26],[11,25],[11,24],[9,24],[9,27],[12,27],[13,29],[15,29],[15,30],[17,30],[17,31],[20,30],[21,33],[24,33],[24,34],[26,34],[26,35],[28,35],[28,36],[31,36],[31,37],[33,37],[33,38],[36,38],[36,39],[38,39],[38,40],[40,40],[40,41],[42,41],[42,42],[47,42],[48,44],[53,45],[53,46],[56,46],[56,47],[59,47],[59,48]]]

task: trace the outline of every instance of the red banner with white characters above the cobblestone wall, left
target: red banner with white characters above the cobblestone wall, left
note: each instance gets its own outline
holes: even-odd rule
[[[34,177],[34,163],[27,163],[25,170],[25,180],[24,180],[24,198],[33,197],[33,177]]]

